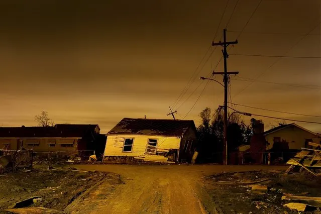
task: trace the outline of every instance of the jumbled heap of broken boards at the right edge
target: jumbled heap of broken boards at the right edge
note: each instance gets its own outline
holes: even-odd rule
[[[313,149],[301,148],[302,151],[286,162],[290,164],[290,167],[285,171],[286,173],[293,171],[295,167],[300,167],[300,170],[305,169],[314,176],[318,175],[313,170],[321,168],[321,145],[312,142],[308,142],[308,145]]]

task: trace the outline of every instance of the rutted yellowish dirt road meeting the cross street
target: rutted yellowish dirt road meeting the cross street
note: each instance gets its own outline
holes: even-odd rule
[[[286,166],[75,165],[120,174],[123,184],[101,182],[70,204],[71,213],[221,213],[202,185],[219,172],[285,170]]]

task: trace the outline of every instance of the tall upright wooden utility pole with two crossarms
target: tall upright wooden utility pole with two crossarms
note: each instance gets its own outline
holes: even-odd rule
[[[223,30],[223,37],[224,37],[224,42],[212,42],[212,46],[217,46],[220,45],[224,49],[222,50],[223,57],[224,57],[224,72],[215,72],[213,71],[213,75],[215,74],[224,74],[224,150],[223,150],[223,164],[227,165],[228,164],[228,75],[229,74],[238,74],[238,71],[233,71],[233,72],[228,72],[228,67],[227,67],[227,59],[229,58],[228,52],[226,48],[229,45],[233,44],[238,44],[238,40],[235,40],[234,42],[227,42],[226,41],[226,29]]]

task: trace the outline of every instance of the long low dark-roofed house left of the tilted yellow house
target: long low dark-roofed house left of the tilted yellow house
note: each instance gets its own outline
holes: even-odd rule
[[[0,149],[33,148],[35,152],[96,150],[98,125],[56,124],[53,127],[1,127]],[[103,142],[100,139],[100,144]],[[100,148],[100,152],[103,149]]]

